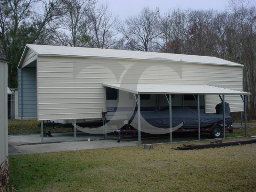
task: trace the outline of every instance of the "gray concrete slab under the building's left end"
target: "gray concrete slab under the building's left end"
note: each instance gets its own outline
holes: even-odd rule
[[[117,143],[116,140],[103,140],[102,135],[83,135],[82,137],[82,134],[80,136],[79,134],[81,133],[78,132],[77,139],[81,141],[74,140],[74,133],[52,133],[53,137],[44,138],[44,142],[41,142],[40,134],[9,135],[9,155],[138,145],[138,141],[122,140],[120,143]],[[91,141],[87,141],[88,138],[90,138]],[[111,134],[109,134],[109,138],[111,138]],[[63,140],[66,141],[63,142]]]

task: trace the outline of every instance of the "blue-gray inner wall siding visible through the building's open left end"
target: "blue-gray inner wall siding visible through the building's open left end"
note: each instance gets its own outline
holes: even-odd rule
[[[21,70],[22,70],[22,74],[21,74]],[[23,117],[36,117],[37,116],[36,68],[22,68],[22,69],[19,68],[18,82],[19,82],[18,83],[19,116],[21,117],[21,105],[22,105]],[[22,82],[22,86],[21,86],[21,82]]]

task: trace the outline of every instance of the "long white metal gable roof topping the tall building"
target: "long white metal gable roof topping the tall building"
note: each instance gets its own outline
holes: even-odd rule
[[[115,58],[115,59],[132,59],[132,60],[165,60],[177,61],[184,63],[199,63],[199,64],[215,64],[215,65],[243,65],[234,63],[228,60],[223,60],[217,57],[197,56],[197,55],[183,55],[172,53],[157,53],[157,52],[140,52],[140,51],[126,51],[114,49],[96,49],[85,47],[66,47],[66,46],[52,46],[52,45],[34,45],[27,44],[26,49],[31,49],[37,55],[45,56],[72,56],[72,57],[98,57],[98,58]],[[22,58],[24,58],[26,51],[24,50]],[[21,61],[22,62],[22,59]],[[20,64],[19,64],[20,65]]]

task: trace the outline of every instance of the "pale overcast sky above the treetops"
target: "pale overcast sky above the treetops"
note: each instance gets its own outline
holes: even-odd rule
[[[187,9],[214,9],[223,11],[228,6],[228,0],[98,0],[100,3],[108,3],[110,12],[118,14],[123,20],[128,16],[134,16],[148,6],[155,10],[159,7],[160,12],[167,12],[170,8],[173,9],[179,6],[182,10]],[[252,4],[256,0],[251,0]]]

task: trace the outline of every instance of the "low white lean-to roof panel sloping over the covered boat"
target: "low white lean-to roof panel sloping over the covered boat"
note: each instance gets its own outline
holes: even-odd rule
[[[206,95],[248,95],[248,92],[197,84],[118,84],[103,83],[103,86],[136,94],[206,94]]]

